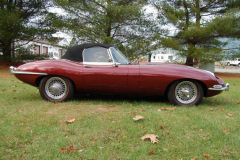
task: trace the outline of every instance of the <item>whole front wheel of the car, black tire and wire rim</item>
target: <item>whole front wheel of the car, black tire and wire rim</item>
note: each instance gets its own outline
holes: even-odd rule
[[[168,90],[168,100],[173,105],[199,105],[202,99],[203,87],[197,81],[176,81]]]

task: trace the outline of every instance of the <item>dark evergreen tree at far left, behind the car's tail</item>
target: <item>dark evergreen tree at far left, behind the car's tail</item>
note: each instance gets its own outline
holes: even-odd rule
[[[51,16],[47,16],[48,0],[1,0],[0,43],[3,59],[11,60],[14,46],[19,40],[51,37],[55,30]]]

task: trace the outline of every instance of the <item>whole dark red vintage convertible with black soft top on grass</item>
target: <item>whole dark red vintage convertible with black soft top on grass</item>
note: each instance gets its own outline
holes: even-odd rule
[[[100,43],[71,47],[60,60],[11,66],[10,73],[55,102],[81,92],[166,96],[174,105],[191,106],[229,89],[212,72],[170,63],[133,64],[118,48]]]

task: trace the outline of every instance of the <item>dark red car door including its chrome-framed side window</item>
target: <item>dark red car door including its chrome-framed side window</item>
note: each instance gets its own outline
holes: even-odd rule
[[[127,87],[128,65],[115,65],[111,53],[104,47],[92,47],[83,51],[83,77],[86,88],[103,91]],[[100,89],[100,90],[99,90]]]

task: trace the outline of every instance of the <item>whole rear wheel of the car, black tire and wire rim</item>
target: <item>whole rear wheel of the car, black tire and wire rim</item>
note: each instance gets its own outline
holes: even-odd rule
[[[67,101],[73,97],[74,85],[68,78],[48,76],[41,80],[39,91],[45,100]]]

